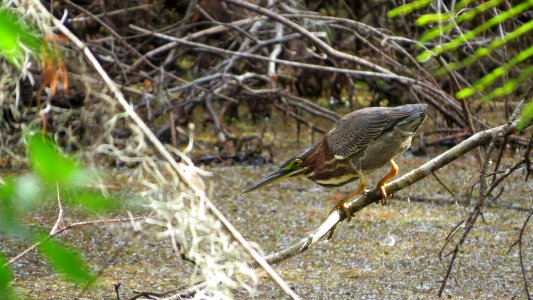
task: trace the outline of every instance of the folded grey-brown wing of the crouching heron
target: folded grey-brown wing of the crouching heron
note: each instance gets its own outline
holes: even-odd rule
[[[385,131],[426,107],[426,104],[369,107],[349,113],[326,134],[329,147],[336,158],[346,159],[366,149]]]

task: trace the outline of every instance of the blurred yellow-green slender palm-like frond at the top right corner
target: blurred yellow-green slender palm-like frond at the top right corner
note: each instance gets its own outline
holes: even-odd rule
[[[474,4],[470,5],[471,3]],[[505,5],[503,5],[504,3]],[[402,5],[397,9],[392,10],[389,13],[389,16],[396,16],[400,14],[406,14],[414,10],[419,10],[425,7],[423,4],[423,1],[414,1],[412,3]],[[530,10],[532,7],[533,0],[522,0],[509,4],[503,0],[488,0],[482,2],[463,0],[454,5],[453,10],[450,12],[440,13],[442,11],[437,10],[439,13],[423,14],[417,19],[417,25],[424,26],[428,24],[435,24],[435,26],[426,30],[422,34],[418,40],[419,43],[416,45],[417,48],[423,47],[424,43],[427,43],[438,37],[446,36],[451,30],[454,30],[454,32],[457,31],[459,35],[457,36],[454,33],[453,35],[456,37],[452,38],[451,41],[446,43],[441,44],[440,42],[436,42],[436,45],[432,49],[426,48],[424,51],[422,51],[417,56],[417,60],[425,62],[431,59],[433,56],[455,50],[458,47],[467,44],[470,40],[480,38],[482,35],[485,36],[485,32],[495,26],[501,26],[509,20],[516,21],[517,18],[522,16],[524,12]],[[483,19],[481,19],[483,21],[477,22],[476,18],[480,17],[483,17]],[[462,24],[468,21],[472,22],[464,25]],[[463,31],[468,30],[468,28],[473,27],[472,25],[477,24],[479,24],[479,26],[476,26],[472,30],[466,32]],[[444,75],[457,69],[469,66],[473,63],[480,62],[483,57],[490,56],[495,50],[505,46],[509,41],[524,37],[533,30],[533,20],[531,19],[529,21],[526,19],[522,23],[519,22],[518,25],[518,27],[514,27],[515,29],[513,31],[502,33],[501,37],[492,40],[488,46],[477,48],[473,55],[469,55],[459,62],[450,62],[449,64],[438,68],[435,74],[439,76]],[[452,35],[449,34],[449,36]],[[446,38],[449,39],[449,36]],[[475,49],[478,47],[478,45],[469,45],[469,47]],[[508,76],[509,78],[506,78],[506,81],[503,85],[487,93],[482,100],[487,101],[516,92],[519,88],[523,87],[524,84],[527,84],[527,80],[531,75],[531,69],[527,63],[527,60],[530,59],[531,56],[533,56],[533,53],[530,47],[529,49],[518,53],[506,63],[502,63],[499,67],[494,68],[490,73],[486,74],[476,83],[474,83],[473,86],[466,87],[457,92],[455,94],[456,98],[464,99],[474,95],[476,92],[485,93],[485,91],[492,86],[496,80],[503,76]],[[515,70],[517,67],[519,68],[520,73],[518,76],[515,76],[515,73],[513,72],[511,74],[510,71]]]

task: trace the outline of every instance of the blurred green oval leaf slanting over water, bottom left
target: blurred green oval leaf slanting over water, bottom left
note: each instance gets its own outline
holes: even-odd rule
[[[61,245],[52,239],[44,239],[39,251],[52,265],[54,270],[68,281],[86,284],[95,279],[82,260],[80,254],[73,249]]]

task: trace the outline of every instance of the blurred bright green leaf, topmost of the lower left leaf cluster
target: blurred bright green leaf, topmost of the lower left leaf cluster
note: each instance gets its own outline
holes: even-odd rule
[[[78,171],[76,163],[65,157],[55,144],[38,133],[30,133],[28,156],[32,169],[49,184],[72,184]]]

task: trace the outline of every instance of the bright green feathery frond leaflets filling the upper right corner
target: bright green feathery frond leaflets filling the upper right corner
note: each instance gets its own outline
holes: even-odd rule
[[[389,17],[396,17],[411,13],[428,7],[431,1],[414,1],[404,4],[388,13]],[[475,3],[475,6],[470,4]],[[524,44],[531,43],[530,34],[533,30],[533,20],[526,22],[517,21],[518,17],[527,12],[533,6],[532,0],[524,0],[518,3],[504,2],[502,0],[491,0],[486,2],[473,2],[463,0],[458,2],[450,11],[443,13],[426,13],[420,16],[416,23],[419,26],[428,26],[428,28],[419,38],[419,42],[425,45],[425,50],[417,57],[419,61],[427,61],[431,58],[442,56],[445,53],[455,51],[460,47],[474,48],[471,55],[465,55],[458,62],[451,62],[441,67],[437,74],[454,72],[467,68],[474,63],[483,63],[483,59],[490,57],[495,52],[509,55],[504,56],[500,66],[494,67],[490,72],[484,74],[481,78],[459,90],[455,96],[457,99],[466,99],[475,95],[482,95],[482,101],[489,101],[503,96],[512,95],[513,92],[521,88],[527,88],[531,84],[531,74],[533,66],[531,65],[531,56],[533,56],[533,45],[529,44],[526,49],[509,49],[505,47],[514,40],[522,39]],[[490,12],[490,13],[489,13]],[[475,20],[477,21],[475,22]],[[479,22],[482,19],[483,21]],[[486,19],[486,20],[485,20]],[[514,30],[504,32],[504,25],[514,22]],[[479,25],[475,25],[479,24]],[[509,26],[513,28],[512,26]],[[465,28],[471,28],[470,30]],[[452,36],[452,31],[458,32]],[[499,35],[499,38],[495,38]],[[529,36],[529,38],[528,38]],[[490,42],[477,43],[481,46],[473,45],[471,42],[476,38],[489,37]],[[437,41],[437,39],[439,39]],[[447,42],[440,42],[446,40]],[[460,55],[456,55],[460,57]],[[527,123],[533,111],[533,102],[529,101],[522,118],[523,123]]]

